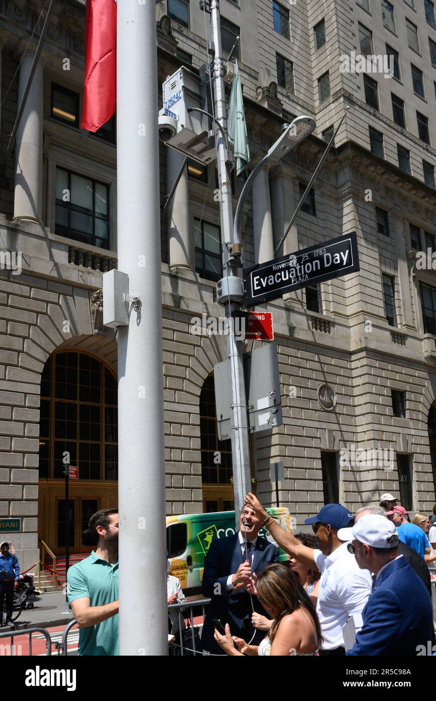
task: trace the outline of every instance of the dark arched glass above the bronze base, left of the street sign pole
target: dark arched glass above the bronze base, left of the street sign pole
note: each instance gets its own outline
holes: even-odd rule
[[[200,392],[199,414],[202,484],[232,484],[232,442],[218,440],[213,375],[206,378]]]

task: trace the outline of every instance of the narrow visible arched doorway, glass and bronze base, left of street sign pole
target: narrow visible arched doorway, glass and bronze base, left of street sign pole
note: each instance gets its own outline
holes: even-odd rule
[[[232,511],[232,446],[230,440],[218,440],[213,374],[204,381],[199,409],[203,511]]]

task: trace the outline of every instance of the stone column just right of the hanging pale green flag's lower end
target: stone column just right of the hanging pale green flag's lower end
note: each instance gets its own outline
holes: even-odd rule
[[[255,263],[265,263],[274,258],[269,178],[266,168],[256,175],[252,189],[253,233]]]

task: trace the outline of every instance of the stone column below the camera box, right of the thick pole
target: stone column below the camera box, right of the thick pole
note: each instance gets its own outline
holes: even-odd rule
[[[184,156],[178,151],[167,147],[167,193],[171,191],[183,158]],[[169,203],[167,222],[169,268],[170,270],[174,268],[191,270],[188,166],[185,166]]]

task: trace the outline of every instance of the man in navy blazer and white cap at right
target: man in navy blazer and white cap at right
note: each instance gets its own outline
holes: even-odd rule
[[[416,656],[419,646],[427,649],[433,636],[433,607],[421,579],[398,554],[395,525],[384,516],[363,516],[337,535],[353,540],[348,547],[358,566],[376,575],[362,612],[363,627],[346,655]]]

